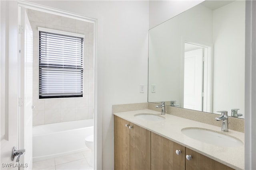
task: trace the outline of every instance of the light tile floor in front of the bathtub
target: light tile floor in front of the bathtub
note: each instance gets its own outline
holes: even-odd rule
[[[90,150],[33,162],[33,170],[93,170],[89,166]]]

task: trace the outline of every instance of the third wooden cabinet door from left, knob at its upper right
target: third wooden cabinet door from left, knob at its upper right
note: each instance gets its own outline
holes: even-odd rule
[[[151,169],[185,170],[185,147],[151,132]]]

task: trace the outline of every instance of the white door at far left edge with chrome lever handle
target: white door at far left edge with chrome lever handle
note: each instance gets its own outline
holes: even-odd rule
[[[0,112],[1,165],[0,169],[18,169],[11,159],[18,145],[18,3],[0,1]]]

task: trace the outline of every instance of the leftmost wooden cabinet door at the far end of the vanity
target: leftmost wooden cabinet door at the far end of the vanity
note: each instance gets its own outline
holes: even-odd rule
[[[130,129],[129,122],[114,116],[114,168],[130,170]]]

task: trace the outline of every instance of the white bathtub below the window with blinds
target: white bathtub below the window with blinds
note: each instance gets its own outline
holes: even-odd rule
[[[33,162],[86,150],[84,139],[93,135],[93,119],[33,127]]]

